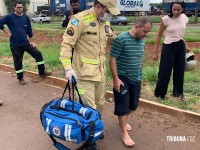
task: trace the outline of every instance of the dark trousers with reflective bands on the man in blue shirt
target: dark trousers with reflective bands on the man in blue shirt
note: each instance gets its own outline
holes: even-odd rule
[[[42,75],[44,73],[45,66],[43,57],[41,52],[36,47],[33,48],[31,47],[31,45],[16,46],[16,47],[11,47],[11,51],[13,55],[17,79],[23,78],[22,59],[25,51],[29,53],[36,60],[36,63],[38,65],[39,75]]]

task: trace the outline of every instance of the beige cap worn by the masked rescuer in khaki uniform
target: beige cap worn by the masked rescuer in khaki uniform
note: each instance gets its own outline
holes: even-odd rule
[[[120,11],[119,8],[117,8],[116,0],[98,0],[101,4],[106,6],[111,14],[113,15],[119,15]]]

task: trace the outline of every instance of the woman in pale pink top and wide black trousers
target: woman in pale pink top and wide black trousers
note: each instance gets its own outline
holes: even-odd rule
[[[158,81],[154,95],[164,99],[167,94],[168,84],[173,70],[173,97],[184,100],[183,82],[185,69],[185,53],[189,51],[184,35],[188,17],[183,13],[184,2],[172,2],[170,14],[162,17],[160,28],[156,37],[153,59],[158,60],[158,46],[165,31],[165,38],[162,45]]]

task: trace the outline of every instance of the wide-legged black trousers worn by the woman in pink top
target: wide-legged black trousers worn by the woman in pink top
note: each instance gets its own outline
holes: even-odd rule
[[[185,45],[182,40],[163,44],[155,95],[165,97],[173,69],[173,94],[183,94]]]

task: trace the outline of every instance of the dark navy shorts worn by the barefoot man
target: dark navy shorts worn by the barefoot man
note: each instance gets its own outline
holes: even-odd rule
[[[113,89],[115,99],[114,114],[118,116],[124,116],[130,111],[134,111],[138,108],[141,81],[133,81],[126,76],[119,76],[119,79],[124,83],[124,87],[126,88],[127,92],[122,94]]]

